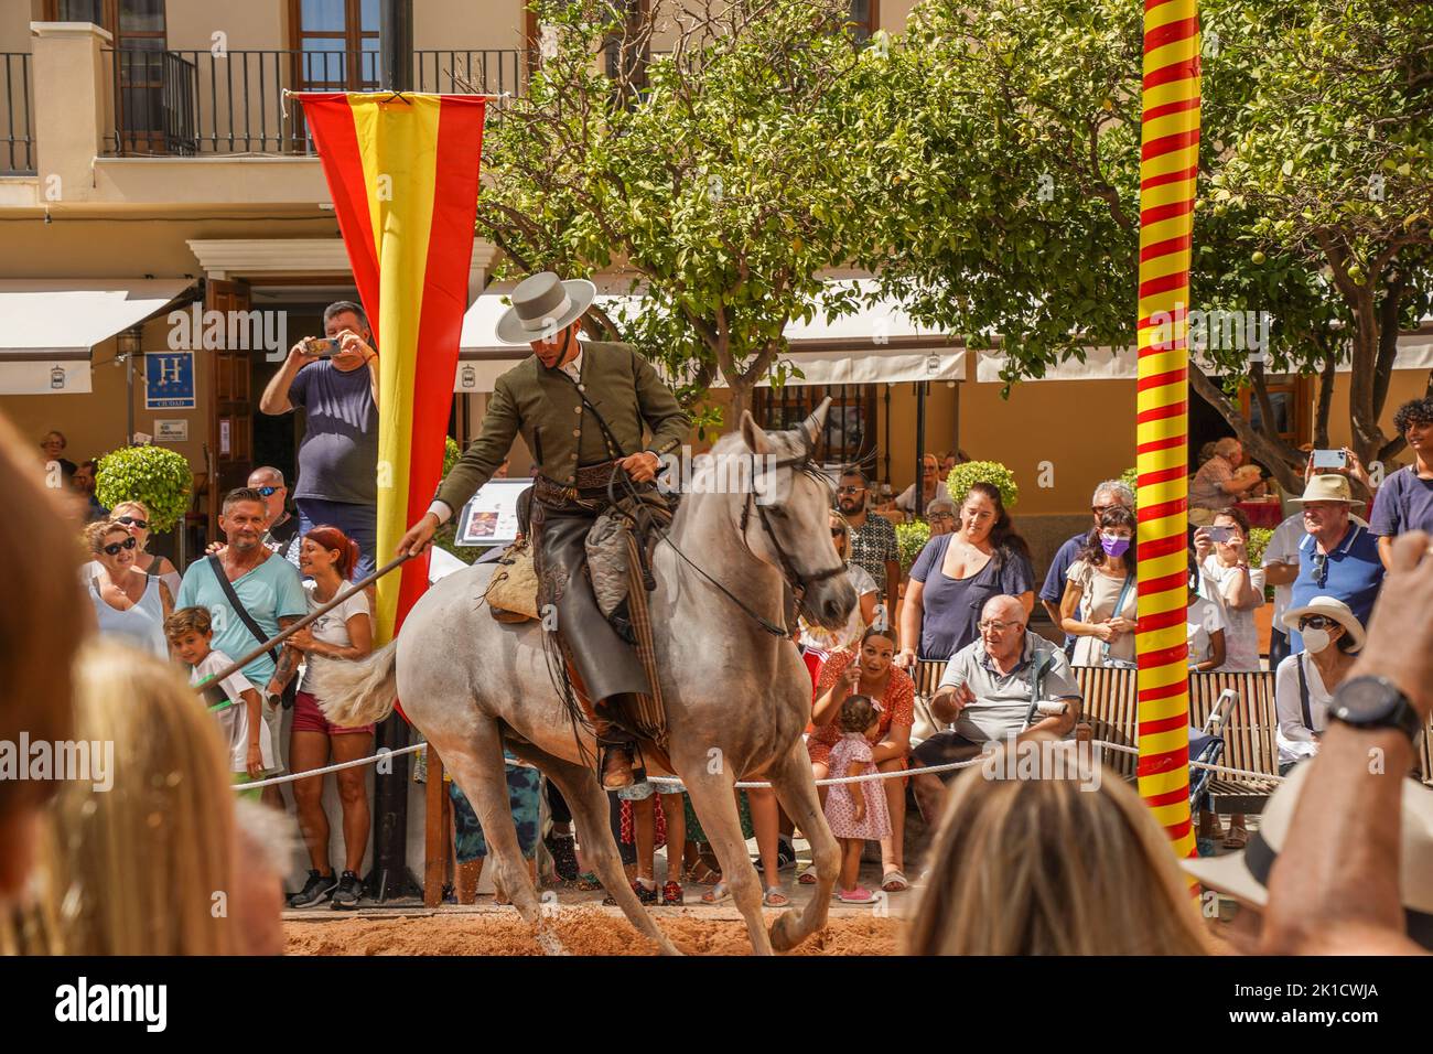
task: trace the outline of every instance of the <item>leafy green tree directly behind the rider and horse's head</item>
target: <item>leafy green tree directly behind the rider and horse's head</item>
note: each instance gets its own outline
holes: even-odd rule
[[[679,24],[599,0],[532,9],[555,47],[489,120],[477,231],[503,275],[620,265],[642,311],[599,326],[712,427],[715,377],[739,412],[788,321],[858,307],[824,272],[873,251],[870,215],[914,146],[870,109],[886,49],[853,46],[845,0],[698,4]],[[643,59],[658,19],[675,39]]]

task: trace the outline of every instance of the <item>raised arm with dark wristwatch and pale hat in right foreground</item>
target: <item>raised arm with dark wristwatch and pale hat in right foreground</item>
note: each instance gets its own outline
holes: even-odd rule
[[[1414,531],[1394,542],[1318,756],[1270,797],[1248,848],[1182,862],[1261,911],[1264,954],[1433,951],[1433,790],[1404,779],[1433,711],[1429,541]]]

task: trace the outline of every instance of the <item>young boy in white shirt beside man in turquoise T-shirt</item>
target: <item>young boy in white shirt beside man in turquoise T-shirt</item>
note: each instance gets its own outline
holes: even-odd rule
[[[274,747],[264,724],[258,690],[235,670],[222,681],[215,674],[234,665],[234,660],[212,647],[214,627],[206,608],[179,608],[165,619],[165,637],[175,654],[189,664],[189,684],[203,687],[203,701],[219,723],[219,734],[229,750],[232,783],[252,783],[274,769]],[[258,800],[259,790],[242,790],[241,797]]]

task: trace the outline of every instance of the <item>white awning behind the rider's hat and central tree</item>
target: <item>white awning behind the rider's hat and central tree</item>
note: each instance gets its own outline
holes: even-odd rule
[[[864,278],[833,280],[858,290],[870,285]],[[454,391],[492,391],[499,376],[526,359],[526,347],[497,344],[493,333],[497,318],[507,310],[503,298],[512,284],[492,285],[463,317],[461,360]],[[598,294],[598,304],[615,317],[631,318],[642,310],[643,298],[629,294]],[[824,313],[787,326],[791,353],[785,361],[800,367],[804,377],[790,377],[788,384],[876,384],[917,380],[964,380],[966,353],[947,337],[921,330],[894,301],[843,315],[830,323]],[[761,386],[768,386],[762,380]],[[716,379],[712,387],[724,387]]]

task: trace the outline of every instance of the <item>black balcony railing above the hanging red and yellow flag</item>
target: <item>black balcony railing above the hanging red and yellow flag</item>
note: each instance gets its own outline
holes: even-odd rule
[[[284,90],[380,90],[377,52],[107,50],[113,130],[106,153],[311,155],[302,106]],[[517,50],[413,53],[414,90],[516,93]],[[3,141],[0,141],[3,142]]]

